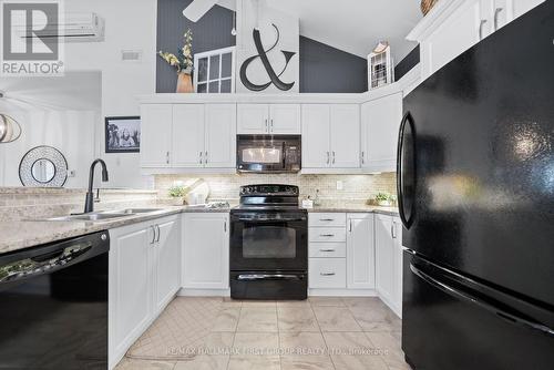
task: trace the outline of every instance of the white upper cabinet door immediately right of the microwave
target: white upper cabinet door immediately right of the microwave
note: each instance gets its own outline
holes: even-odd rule
[[[302,105],[302,167],[330,165],[330,111],[326,104]]]

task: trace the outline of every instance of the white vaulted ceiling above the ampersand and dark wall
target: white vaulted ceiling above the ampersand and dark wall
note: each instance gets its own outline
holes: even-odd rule
[[[396,62],[416,44],[406,35],[421,20],[419,0],[259,0],[300,19],[300,34],[367,58],[387,40]],[[233,7],[233,0],[222,0]]]

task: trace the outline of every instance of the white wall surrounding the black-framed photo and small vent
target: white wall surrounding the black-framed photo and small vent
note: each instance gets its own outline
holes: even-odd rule
[[[138,154],[105,154],[104,116],[138,115],[135,99],[155,92],[156,0],[66,0],[66,12],[95,12],[105,19],[105,41],[65,44],[66,70],[102,71],[102,116],[96,154],[107,164],[110,187],[151,187],[140,175]],[[141,62],[122,62],[122,50],[141,50]]]

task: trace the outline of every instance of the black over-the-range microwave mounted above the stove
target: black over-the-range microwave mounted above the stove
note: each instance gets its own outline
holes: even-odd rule
[[[300,135],[237,135],[237,171],[295,173],[301,169]]]

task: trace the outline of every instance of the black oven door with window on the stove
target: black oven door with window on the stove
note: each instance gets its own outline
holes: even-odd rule
[[[230,215],[232,271],[306,271],[306,213],[237,212]]]

